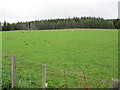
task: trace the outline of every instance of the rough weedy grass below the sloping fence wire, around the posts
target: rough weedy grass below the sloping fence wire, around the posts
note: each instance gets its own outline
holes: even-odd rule
[[[0,53],[1,54],[1,53]],[[2,53],[2,88],[11,87],[11,57]],[[42,88],[42,65],[44,63],[17,56],[16,88]],[[46,65],[47,88],[110,88],[111,81],[87,76],[87,72],[76,73]]]

